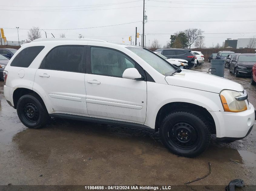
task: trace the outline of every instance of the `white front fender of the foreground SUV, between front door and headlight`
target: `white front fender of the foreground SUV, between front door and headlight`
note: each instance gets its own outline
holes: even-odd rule
[[[147,82],[147,91],[145,125],[151,128],[155,128],[158,111],[168,103],[185,102],[204,107],[208,111],[224,111],[217,93],[154,82]]]

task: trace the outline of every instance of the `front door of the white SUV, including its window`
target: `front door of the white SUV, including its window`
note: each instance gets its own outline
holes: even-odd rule
[[[143,69],[125,54],[109,48],[89,47],[85,74],[90,117],[144,124],[147,82],[122,78],[127,68]]]

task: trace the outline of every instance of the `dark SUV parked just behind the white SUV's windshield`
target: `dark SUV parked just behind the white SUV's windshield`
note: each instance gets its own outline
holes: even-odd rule
[[[195,55],[189,49],[158,49],[155,52],[160,53],[167,58],[179,58],[188,61],[188,68],[193,68],[195,66]],[[187,68],[187,69],[188,69]]]

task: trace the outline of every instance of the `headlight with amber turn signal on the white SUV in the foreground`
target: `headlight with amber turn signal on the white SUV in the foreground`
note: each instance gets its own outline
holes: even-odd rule
[[[247,110],[245,100],[241,100],[238,97],[242,97],[243,94],[233,90],[222,90],[220,93],[221,103],[224,111],[228,112],[240,112]],[[239,101],[240,99],[241,101]],[[247,94],[246,94],[247,99]]]

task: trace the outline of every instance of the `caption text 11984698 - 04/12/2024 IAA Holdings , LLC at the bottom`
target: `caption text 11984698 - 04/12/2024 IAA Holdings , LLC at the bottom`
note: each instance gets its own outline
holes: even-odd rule
[[[171,186],[85,186],[85,189],[88,190],[103,190],[103,189],[109,189],[109,190],[145,190],[145,189],[150,189],[150,190],[169,190],[171,189]]]

